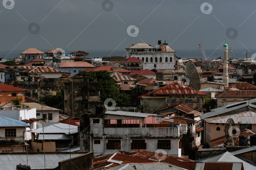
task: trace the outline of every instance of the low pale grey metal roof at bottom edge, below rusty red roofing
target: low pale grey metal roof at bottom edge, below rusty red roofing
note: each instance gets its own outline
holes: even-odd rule
[[[110,170],[186,170],[168,163],[127,163],[117,167],[109,168]]]

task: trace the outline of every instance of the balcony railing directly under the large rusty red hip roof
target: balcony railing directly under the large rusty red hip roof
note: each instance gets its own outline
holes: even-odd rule
[[[200,103],[204,104],[204,97],[197,97],[195,99],[189,99],[185,97],[170,97],[166,98],[165,103],[166,104],[174,104],[174,103],[186,103],[186,104],[193,104],[193,103]]]

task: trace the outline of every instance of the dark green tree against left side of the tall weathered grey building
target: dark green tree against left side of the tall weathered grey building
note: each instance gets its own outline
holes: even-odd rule
[[[41,99],[39,101],[41,102]],[[64,110],[64,88],[60,89],[56,95],[42,97],[42,101],[48,106]]]

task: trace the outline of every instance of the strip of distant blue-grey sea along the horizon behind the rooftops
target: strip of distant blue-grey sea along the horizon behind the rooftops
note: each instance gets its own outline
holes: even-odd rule
[[[49,49],[39,49],[42,52],[46,52]],[[199,50],[176,50],[176,56],[180,58],[202,58],[204,60],[204,56],[202,52]],[[14,50],[10,53],[10,51],[0,51],[0,55],[2,55],[3,58],[8,60],[13,60],[14,57],[20,57],[20,52],[24,50]],[[73,52],[75,50],[65,51],[66,54]],[[106,56],[125,56],[126,50],[85,50],[86,52],[89,52],[90,58],[102,58]],[[204,50],[206,54],[209,57],[209,60],[213,60],[216,58],[216,55],[223,56],[223,50],[214,50],[214,49],[206,49]],[[10,53],[10,54],[9,54]],[[247,58],[251,58],[253,53],[256,53],[256,49],[248,49],[247,50]],[[9,54],[9,55],[8,55]],[[243,59],[246,58],[245,49],[235,49],[233,50],[234,58]],[[7,56],[8,55],[8,56]],[[6,57],[7,56],[7,57]]]

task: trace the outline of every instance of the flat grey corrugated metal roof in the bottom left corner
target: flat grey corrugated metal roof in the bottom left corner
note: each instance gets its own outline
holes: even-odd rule
[[[81,156],[84,153],[46,153],[46,169],[52,169],[58,167],[58,162],[64,161],[67,159],[74,158],[76,156]],[[28,161],[27,161],[28,159]],[[0,154],[0,167],[1,170],[15,170],[16,165],[20,163],[22,165],[28,165],[31,169],[45,169],[44,154],[43,153],[8,153]]]

